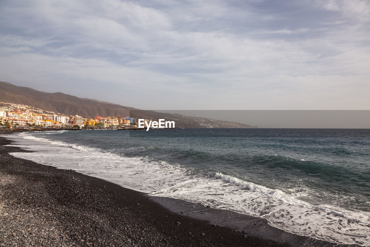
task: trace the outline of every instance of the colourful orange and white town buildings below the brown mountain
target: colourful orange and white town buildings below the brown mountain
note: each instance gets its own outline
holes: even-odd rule
[[[152,121],[145,119],[144,121]],[[135,118],[109,116],[98,113],[94,119],[79,115],[66,116],[28,105],[0,102],[0,128],[137,128]]]

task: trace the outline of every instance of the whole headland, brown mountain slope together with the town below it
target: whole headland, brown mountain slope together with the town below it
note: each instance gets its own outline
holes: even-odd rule
[[[139,110],[64,93],[0,82],[0,128],[138,128],[137,119],[174,121],[176,128],[255,128],[217,119]]]

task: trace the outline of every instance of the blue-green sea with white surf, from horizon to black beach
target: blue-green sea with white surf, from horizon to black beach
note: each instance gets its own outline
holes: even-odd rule
[[[159,197],[370,246],[370,129],[152,129],[9,135],[20,158]],[[13,144],[12,144],[13,145]]]

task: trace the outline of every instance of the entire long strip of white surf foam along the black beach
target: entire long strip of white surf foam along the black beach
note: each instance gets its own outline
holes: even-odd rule
[[[194,170],[179,164],[153,161],[149,157],[123,157],[99,148],[67,144],[36,135],[8,136],[17,141],[17,146],[38,151],[12,155],[57,168],[74,169],[156,196],[201,202],[213,208],[262,217],[269,224],[291,233],[336,243],[370,246],[369,213],[331,205],[312,205],[297,199],[299,193],[307,193],[307,188],[300,187],[287,194],[222,172],[213,177],[194,175]]]

